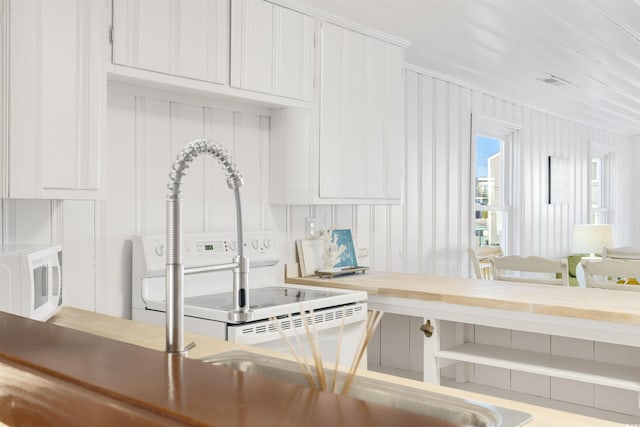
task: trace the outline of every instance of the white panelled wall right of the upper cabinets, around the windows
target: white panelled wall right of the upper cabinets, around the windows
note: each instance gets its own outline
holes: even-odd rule
[[[635,147],[586,124],[518,105],[426,73],[406,74],[407,140],[405,203],[402,206],[295,206],[287,208],[287,247],[304,236],[304,218],[354,230],[357,246],[369,249],[364,263],[376,270],[435,275],[469,274],[471,242],[471,117],[519,126],[514,178],[517,197],[509,252],[548,257],[571,252],[573,224],[589,221],[590,145],[613,153],[612,222],[616,243],[638,241],[632,219],[638,194],[632,168]],[[547,204],[547,156],[570,159],[566,204]],[[293,249],[287,254],[293,260]]]

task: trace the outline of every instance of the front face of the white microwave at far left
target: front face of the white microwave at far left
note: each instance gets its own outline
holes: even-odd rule
[[[29,294],[23,309],[31,319],[47,320],[62,304],[62,268],[59,246],[26,255]]]

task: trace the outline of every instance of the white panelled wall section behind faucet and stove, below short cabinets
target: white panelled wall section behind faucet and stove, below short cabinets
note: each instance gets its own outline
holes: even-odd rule
[[[109,90],[109,198],[99,205],[104,274],[99,311],[131,314],[133,234],[163,234],[171,164],[187,142],[212,139],[227,148],[246,182],[241,189],[244,227],[272,228],[268,195],[268,111],[235,108],[132,86]],[[196,159],[183,185],[185,232],[234,231],[233,192],[211,156]]]

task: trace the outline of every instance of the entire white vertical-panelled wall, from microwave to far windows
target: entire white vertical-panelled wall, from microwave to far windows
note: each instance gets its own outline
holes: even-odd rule
[[[376,270],[467,276],[472,114],[520,125],[515,167],[520,197],[511,212],[515,224],[511,252],[569,253],[571,226],[588,221],[590,143],[614,150],[616,244],[633,245],[640,240],[635,220],[640,188],[634,185],[633,173],[637,143],[413,67],[406,72],[407,139],[398,141],[406,144],[405,203],[393,206],[271,206],[267,200],[268,110],[110,86],[108,200],[5,200],[2,205],[3,242],[64,243],[69,261],[65,274],[70,275],[67,301],[86,308],[128,315],[126,241],[134,233],[164,229],[168,170],[180,146],[194,135],[214,136],[232,151],[238,150],[238,164],[252,183],[243,193],[249,213],[246,227],[273,228],[284,262],[295,259],[294,241],[304,236],[305,218],[315,217],[319,225],[352,228],[357,246],[369,252],[363,264]],[[575,198],[569,204],[545,202],[548,155],[571,159]],[[195,164],[189,179],[197,177],[198,183],[185,186],[187,229],[234,227],[231,196],[211,162]],[[76,297],[76,293],[86,296]]]

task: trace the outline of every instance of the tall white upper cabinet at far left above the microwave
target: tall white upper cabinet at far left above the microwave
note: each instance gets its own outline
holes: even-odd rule
[[[107,3],[2,4],[3,196],[105,197]]]

